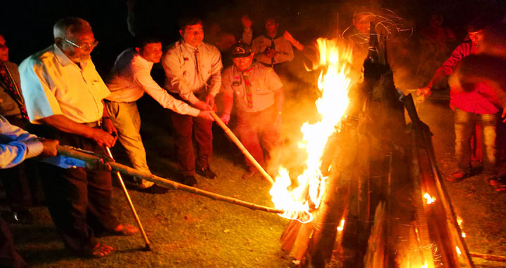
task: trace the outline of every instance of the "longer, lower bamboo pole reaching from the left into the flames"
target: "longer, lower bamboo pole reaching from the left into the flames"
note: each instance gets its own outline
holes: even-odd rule
[[[75,149],[73,147],[65,147],[65,146],[58,146],[58,154],[69,156],[74,159],[80,159],[89,163],[102,163],[103,159],[101,159],[98,156],[95,156],[93,154],[90,154],[89,152],[83,152],[79,149]],[[238,206],[243,206],[245,208],[249,208],[252,210],[261,210],[268,213],[276,213],[276,214],[283,214],[285,213],[285,210],[280,210],[276,208],[270,208],[267,206],[260,206],[255,203],[249,203],[246,201],[242,201],[240,199],[234,199],[232,197],[228,196],[222,196],[221,194],[214,194],[212,192],[207,192],[205,190],[201,190],[195,187],[190,187],[183,185],[178,182],[173,182],[171,180],[167,180],[163,177],[158,177],[157,175],[153,175],[150,173],[144,173],[141,171],[138,171],[134,168],[130,168],[129,166],[124,166],[120,163],[116,162],[107,162],[107,164],[112,168],[112,170],[119,171],[124,174],[128,174],[134,177],[138,177],[144,180],[149,180],[150,182],[155,182],[157,185],[163,185],[165,187],[169,187],[171,189],[181,190],[184,192],[189,192],[192,194],[198,194],[200,196],[206,196],[210,199],[214,199],[216,201],[223,201],[227,203],[233,203]],[[301,214],[304,215],[304,214]]]

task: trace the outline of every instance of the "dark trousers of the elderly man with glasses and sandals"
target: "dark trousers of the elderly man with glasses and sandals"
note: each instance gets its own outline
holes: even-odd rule
[[[60,145],[105,154],[105,149],[93,140],[49,126],[34,126],[32,133],[60,140]],[[96,245],[93,232],[112,231],[119,225],[112,215],[110,172],[58,168],[48,163],[40,163],[39,167],[44,174],[42,186],[49,213],[67,248],[88,251]]]

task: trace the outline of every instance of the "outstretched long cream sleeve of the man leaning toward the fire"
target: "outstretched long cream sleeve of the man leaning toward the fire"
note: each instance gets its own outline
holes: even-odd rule
[[[197,116],[200,113],[199,109],[195,109],[190,105],[187,105],[181,100],[176,100],[167,91],[161,88],[147,69],[133,70],[134,81],[141,86],[146,93],[148,93],[153,99],[155,99],[162,107],[171,109],[178,114],[189,114],[191,116]]]

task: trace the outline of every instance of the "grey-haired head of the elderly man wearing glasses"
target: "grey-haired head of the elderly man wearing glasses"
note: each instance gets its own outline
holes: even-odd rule
[[[63,18],[53,27],[56,46],[73,62],[90,59],[91,51],[98,41],[93,36],[91,26],[82,18]]]

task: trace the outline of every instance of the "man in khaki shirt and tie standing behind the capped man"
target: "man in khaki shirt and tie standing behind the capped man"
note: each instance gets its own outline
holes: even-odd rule
[[[292,43],[285,39],[285,36],[291,35],[278,35],[279,23],[275,18],[267,18],[265,28],[266,34],[252,41],[254,57],[261,64],[277,69],[283,62],[290,62],[294,58]]]

